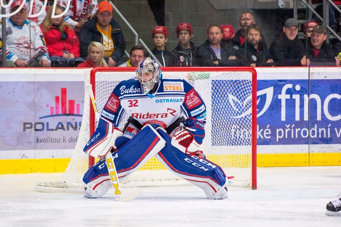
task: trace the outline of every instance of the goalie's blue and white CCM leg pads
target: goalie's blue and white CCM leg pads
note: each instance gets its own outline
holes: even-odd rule
[[[135,172],[152,156],[167,169],[191,184],[203,189],[209,199],[227,197],[227,179],[223,170],[214,163],[182,153],[170,143],[169,135],[161,128],[157,132],[147,125],[131,140],[113,153],[119,180]],[[105,159],[99,160],[84,175],[83,182],[92,198],[103,196],[110,188]]]

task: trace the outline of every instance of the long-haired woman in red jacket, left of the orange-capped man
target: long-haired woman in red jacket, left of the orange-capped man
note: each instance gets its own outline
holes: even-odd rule
[[[63,8],[55,7],[55,15],[61,14]],[[52,7],[47,10],[47,16],[40,24],[52,67],[74,67],[84,60],[79,57],[79,41],[72,27],[65,23],[64,16],[51,18]]]

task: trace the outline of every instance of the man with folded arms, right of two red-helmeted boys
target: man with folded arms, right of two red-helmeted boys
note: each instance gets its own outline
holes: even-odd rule
[[[207,36],[197,51],[199,66],[242,66],[242,62],[233,55],[232,48],[221,44],[222,29],[218,24],[208,26]]]

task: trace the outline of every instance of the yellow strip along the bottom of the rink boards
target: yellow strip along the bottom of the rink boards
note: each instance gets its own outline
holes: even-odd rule
[[[240,160],[234,156],[238,155],[212,155],[207,156],[207,158],[222,168],[247,167],[249,165],[248,162],[243,164],[229,163],[228,160]],[[227,163],[220,163],[219,160],[226,160],[226,158]],[[243,159],[245,160],[245,157]],[[69,158],[0,160],[0,174],[63,173],[69,161]],[[150,166],[150,164],[152,164],[153,170],[165,169],[161,163],[152,158],[139,170],[148,170],[146,166]],[[341,166],[341,153],[257,154],[257,167],[289,166]]]

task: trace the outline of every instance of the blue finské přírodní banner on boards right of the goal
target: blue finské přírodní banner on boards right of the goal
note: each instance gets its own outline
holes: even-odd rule
[[[340,74],[325,68],[294,68],[280,75],[267,70],[271,75],[257,71],[257,145],[290,150],[287,145],[341,144]]]

